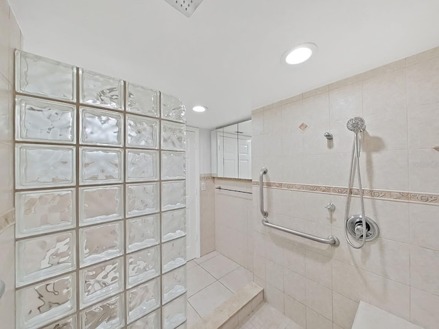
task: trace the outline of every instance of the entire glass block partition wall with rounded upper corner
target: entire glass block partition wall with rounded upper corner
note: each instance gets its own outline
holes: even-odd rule
[[[185,107],[15,65],[16,328],[186,328]]]

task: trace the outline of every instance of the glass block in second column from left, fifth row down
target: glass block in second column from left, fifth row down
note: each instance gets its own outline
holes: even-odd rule
[[[80,230],[81,266],[120,256],[122,252],[122,222],[82,228]]]

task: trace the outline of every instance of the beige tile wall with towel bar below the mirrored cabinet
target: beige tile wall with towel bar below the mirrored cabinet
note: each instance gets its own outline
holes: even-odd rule
[[[215,187],[252,191],[250,180],[215,178]],[[253,271],[252,195],[215,189],[215,249]]]

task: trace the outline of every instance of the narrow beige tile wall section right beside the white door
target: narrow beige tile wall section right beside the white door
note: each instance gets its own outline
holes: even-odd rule
[[[201,256],[215,250],[215,184],[213,177],[200,177],[200,249]]]

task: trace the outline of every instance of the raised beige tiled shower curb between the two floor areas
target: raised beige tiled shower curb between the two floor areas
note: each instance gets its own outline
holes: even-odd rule
[[[234,329],[263,302],[263,289],[250,282],[189,329]]]

